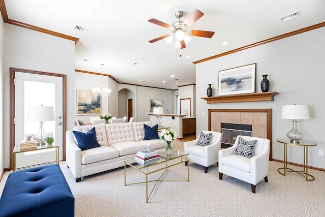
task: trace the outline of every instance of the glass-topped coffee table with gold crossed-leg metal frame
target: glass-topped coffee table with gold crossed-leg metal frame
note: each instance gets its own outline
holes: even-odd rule
[[[170,153],[167,153],[165,150],[157,151],[157,153],[159,154],[159,161],[154,162],[149,165],[145,165],[145,166],[135,163],[134,159],[124,161],[124,186],[146,183],[146,202],[147,203],[149,202],[149,198],[159,181],[189,181],[189,166],[187,166],[187,179],[163,179],[162,178],[163,175],[168,171],[168,168],[174,167],[174,166],[182,164],[184,162],[189,162],[189,159],[187,158],[188,153],[185,153],[183,151],[176,150],[176,149],[173,149],[172,151],[170,151]],[[126,166],[136,169],[139,172],[141,172],[142,174],[144,174],[146,176],[146,180],[142,181],[142,182],[126,183]],[[158,179],[155,179],[155,180],[148,179],[148,176],[150,174],[156,173],[158,171],[163,171],[163,174],[161,174]],[[150,193],[148,192],[148,183],[149,182],[155,182]]]

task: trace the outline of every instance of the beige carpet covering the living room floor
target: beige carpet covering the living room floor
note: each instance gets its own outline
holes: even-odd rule
[[[310,170],[316,180],[306,182],[299,174],[280,175],[277,168],[282,164],[270,162],[269,182],[262,180],[253,194],[249,183],[226,175],[219,180],[216,165],[207,174],[202,166],[189,166],[189,182],[159,182],[147,204],[145,185],[124,186],[123,168],[76,183],[66,162],[60,162],[76,199],[76,216],[325,216],[324,172]],[[166,178],[186,178],[186,171],[178,165]],[[0,182],[0,192],[8,174]],[[127,178],[140,181],[145,176],[128,167]]]

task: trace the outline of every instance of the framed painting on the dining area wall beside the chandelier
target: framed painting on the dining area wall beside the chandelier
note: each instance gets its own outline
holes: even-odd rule
[[[77,115],[100,115],[101,97],[94,96],[91,90],[77,89]]]

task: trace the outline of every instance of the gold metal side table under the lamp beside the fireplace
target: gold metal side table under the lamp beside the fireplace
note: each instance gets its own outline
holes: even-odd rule
[[[313,181],[315,180],[315,177],[308,174],[308,147],[309,146],[316,146],[317,143],[312,142],[312,141],[308,141],[308,140],[300,140],[299,143],[291,143],[290,139],[277,139],[276,141],[283,143],[283,148],[284,148],[284,166],[278,169],[278,172],[282,175],[286,175],[286,173],[288,172],[296,172],[300,175],[302,175],[303,177],[306,178],[306,181]],[[302,171],[296,171],[293,169],[290,169],[287,167],[287,145],[297,145],[297,146],[303,146],[304,147],[304,170]],[[280,170],[283,170],[283,173],[280,172]],[[289,170],[289,171],[287,171]],[[310,177],[310,178],[308,178]]]

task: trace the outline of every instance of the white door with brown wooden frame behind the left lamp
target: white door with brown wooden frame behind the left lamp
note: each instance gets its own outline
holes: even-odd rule
[[[27,122],[26,115],[29,106],[53,106],[54,121],[44,122],[44,131],[54,137],[59,145],[59,160],[65,160],[65,75],[11,69],[14,87],[11,88],[11,117],[14,125],[11,131],[11,150],[15,144],[20,144],[26,135],[39,131],[39,122]],[[55,160],[55,149],[30,151],[17,155],[17,168],[37,165]],[[12,162],[10,162],[12,168]]]

